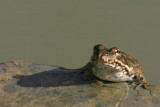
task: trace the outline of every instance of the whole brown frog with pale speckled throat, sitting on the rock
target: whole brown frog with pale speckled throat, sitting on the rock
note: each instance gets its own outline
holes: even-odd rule
[[[88,68],[95,77],[101,80],[136,82],[136,90],[140,86],[146,89],[149,86],[138,61],[121,52],[117,47],[107,49],[101,44],[96,45]]]

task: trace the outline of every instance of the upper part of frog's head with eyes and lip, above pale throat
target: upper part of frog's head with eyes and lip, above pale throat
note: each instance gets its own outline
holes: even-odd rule
[[[130,64],[133,61],[129,60],[131,60],[129,56],[121,52],[119,48],[112,47],[107,49],[102,44],[94,46],[93,55],[91,57],[91,61],[96,61],[106,67],[125,72],[130,72],[133,69],[131,66],[133,64]]]

